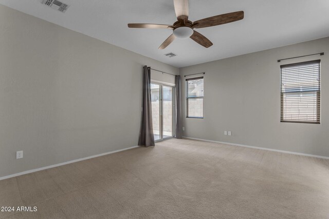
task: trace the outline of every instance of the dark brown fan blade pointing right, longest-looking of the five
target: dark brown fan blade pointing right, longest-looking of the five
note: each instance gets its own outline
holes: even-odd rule
[[[221,14],[221,15],[200,19],[193,23],[193,27],[194,28],[212,27],[216,25],[236,22],[243,19],[243,17],[244,17],[243,11],[235,11],[232,13]]]

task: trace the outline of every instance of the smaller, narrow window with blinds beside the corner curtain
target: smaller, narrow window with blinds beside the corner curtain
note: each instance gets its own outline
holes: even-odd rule
[[[204,77],[186,79],[186,117],[204,117]]]

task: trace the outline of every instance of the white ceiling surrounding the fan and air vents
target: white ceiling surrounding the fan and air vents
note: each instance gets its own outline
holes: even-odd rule
[[[190,21],[243,10],[242,21],[197,29],[212,41],[204,48],[192,39],[175,39],[164,50],[158,47],[169,29],[131,29],[127,23],[172,25],[176,21],[172,0],[63,0],[62,13],[42,0],[0,0],[0,4],[116,46],[185,67],[309,41],[329,36],[328,0],[190,0]],[[164,54],[173,52],[175,57]]]

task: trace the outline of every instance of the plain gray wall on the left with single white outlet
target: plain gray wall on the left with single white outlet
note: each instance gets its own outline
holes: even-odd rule
[[[0,30],[0,177],[137,145],[142,66],[179,73],[2,5]]]

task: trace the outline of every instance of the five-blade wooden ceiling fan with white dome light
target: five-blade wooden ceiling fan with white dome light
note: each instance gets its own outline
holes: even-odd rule
[[[163,25],[163,24],[128,24],[130,28],[165,28],[172,29],[173,34],[171,34],[165,42],[161,44],[159,49],[165,49],[169,44],[171,44],[174,39],[177,38],[188,38],[190,37],[196,43],[204,46],[206,48],[211,47],[212,43],[207,37],[193,30],[194,28],[204,28],[212,27],[216,25],[227,24],[231,22],[236,22],[243,19],[243,11],[235,11],[227,14],[216,15],[212,17],[207,17],[200,19],[195,22],[188,20],[189,18],[189,1],[188,0],[174,0],[174,7],[177,16],[177,22],[173,25]]]

